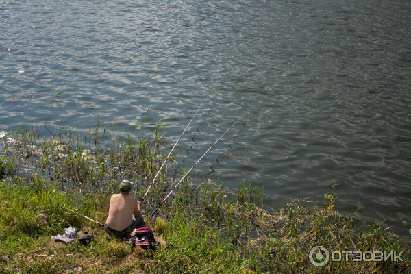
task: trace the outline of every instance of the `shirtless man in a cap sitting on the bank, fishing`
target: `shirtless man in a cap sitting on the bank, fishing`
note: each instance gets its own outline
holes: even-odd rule
[[[105,232],[117,238],[125,238],[136,228],[144,224],[140,214],[140,201],[129,196],[132,184],[124,180],[120,184],[120,193],[112,195]],[[134,214],[134,220],[132,215]]]

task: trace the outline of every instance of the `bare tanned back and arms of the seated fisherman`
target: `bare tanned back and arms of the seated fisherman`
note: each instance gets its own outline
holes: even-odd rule
[[[132,215],[140,216],[140,203],[128,193],[112,195],[105,225],[116,231],[123,231],[132,224]]]

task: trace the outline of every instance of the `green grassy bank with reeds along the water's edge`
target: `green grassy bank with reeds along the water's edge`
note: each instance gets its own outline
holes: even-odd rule
[[[121,179],[136,182],[134,195],[141,197],[169,149],[157,134],[110,146],[98,134],[9,137],[0,158],[0,273],[410,273],[410,245],[378,225],[341,216],[331,193],[310,208],[290,201],[267,212],[248,184],[233,193],[189,178],[157,219],[147,219],[168,244],[133,250],[66,207],[103,222]],[[166,170],[160,177],[158,182],[168,183],[155,185],[145,213],[175,182]],[[50,241],[69,226],[95,232],[96,241],[86,247]],[[403,251],[403,262],[350,260],[316,267],[308,258],[316,245],[330,251]]]

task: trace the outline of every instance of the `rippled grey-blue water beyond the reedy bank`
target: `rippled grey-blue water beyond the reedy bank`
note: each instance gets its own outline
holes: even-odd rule
[[[0,130],[178,136],[195,172],[411,223],[410,1],[2,1]],[[46,127],[44,127],[46,125]],[[173,140],[173,139],[170,139]]]

